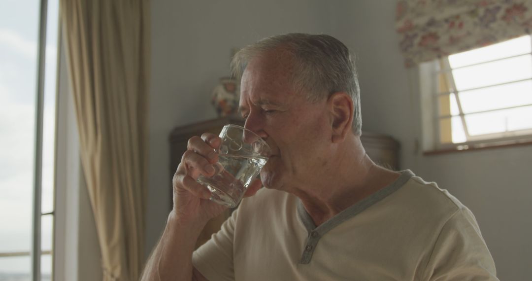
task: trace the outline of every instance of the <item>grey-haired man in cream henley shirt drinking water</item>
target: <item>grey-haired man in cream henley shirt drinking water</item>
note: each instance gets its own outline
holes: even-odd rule
[[[327,35],[273,36],[242,49],[232,67],[242,73],[245,127],[272,156],[220,232],[194,251],[207,220],[225,207],[196,183],[213,175],[220,138],[191,138],[144,280],[497,279],[469,209],[365,153],[344,44]]]

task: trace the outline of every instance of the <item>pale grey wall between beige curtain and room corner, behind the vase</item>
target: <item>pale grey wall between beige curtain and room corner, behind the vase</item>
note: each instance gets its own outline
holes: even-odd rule
[[[146,254],[169,212],[168,136],[172,128],[216,117],[210,96],[228,75],[231,48],[286,32],[323,33],[326,2],[153,1]],[[172,173],[173,175],[173,173]]]

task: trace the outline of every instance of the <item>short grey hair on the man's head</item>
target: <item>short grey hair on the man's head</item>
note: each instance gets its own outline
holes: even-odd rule
[[[346,92],[353,100],[353,133],[362,133],[358,75],[349,49],[329,35],[291,33],[267,37],[238,51],[231,61],[232,76],[240,78],[253,57],[281,51],[288,55],[295,71],[288,77],[294,90],[306,92],[317,102],[336,92]]]

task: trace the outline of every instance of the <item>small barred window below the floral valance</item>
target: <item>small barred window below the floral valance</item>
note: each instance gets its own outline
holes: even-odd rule
[[[532,38],[522,36],[432,63],[432,149],[532,140]],[[421,69],[425,69],[426,67]],[[434,74],[433,74],[434,75]],[[421,75],[423,79],[423,73]],[[423,82],[422,82],[423,83]],[[426,110],[427,111],[427,110]]]

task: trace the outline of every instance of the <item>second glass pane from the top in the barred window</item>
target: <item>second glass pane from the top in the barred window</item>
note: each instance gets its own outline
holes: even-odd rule
[[[532,77],[530,55],[488,62],[452,71],[456,89],[469,90]]]

